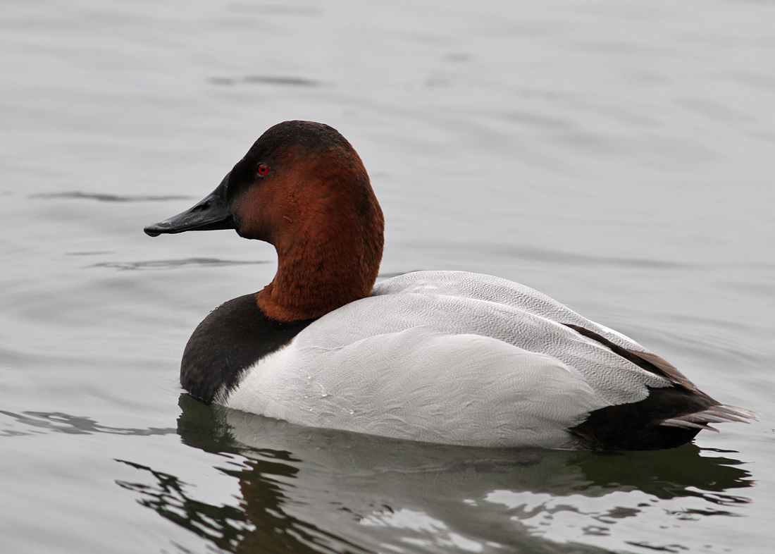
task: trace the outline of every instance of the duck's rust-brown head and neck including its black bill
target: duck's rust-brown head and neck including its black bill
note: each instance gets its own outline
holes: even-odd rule
[[[353,146],[322,123],[271,127],[212,194],[145,232],[214,229],[277,249],[277,275],[256,295],[270,318],[320,317],[365,298],[377,279],[382,211]]]

